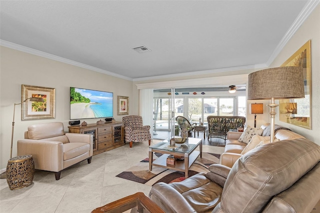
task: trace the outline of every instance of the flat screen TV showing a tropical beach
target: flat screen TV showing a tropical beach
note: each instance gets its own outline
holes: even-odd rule
[[[70,87],[70,119],[113,116],[113,92]]]

